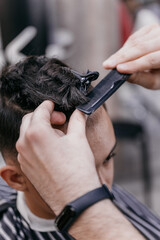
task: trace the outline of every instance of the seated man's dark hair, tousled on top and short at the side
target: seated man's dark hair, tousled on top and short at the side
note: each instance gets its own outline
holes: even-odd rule
[[[31,56],[5,68],[0,76],[0,151],[16,153],[22,117],[44,100],[53,100],[55,110],[67,118],[87,101],[80,80],[58,59]]]

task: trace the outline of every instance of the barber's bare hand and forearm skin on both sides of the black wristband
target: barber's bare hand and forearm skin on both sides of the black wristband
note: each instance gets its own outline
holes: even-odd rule
[[[53,109],[52,102],[44,101],[33,113],[25,115],[16,147],[22,171],[58,214],[64,205],[101,183],[86,138],[85,115],[76,110],[65,134],[52,128],[52,124],[65,121],[64,115],[53,113]],[[110,200],[87,209],[70,233],[79,240],[144,239]]]

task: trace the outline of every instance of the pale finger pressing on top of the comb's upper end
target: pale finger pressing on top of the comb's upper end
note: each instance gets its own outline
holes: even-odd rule
[[[125,73],[142,72],[160,68],[160,51],[149,53],[136,60],[117,65],[117,70]]]

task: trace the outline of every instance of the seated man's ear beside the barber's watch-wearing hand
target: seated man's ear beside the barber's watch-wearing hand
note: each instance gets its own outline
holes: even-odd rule
[[[27,190],[25,177],[18,167],[6,165],[0,169],[0,176],[10,187],[18,191]]]

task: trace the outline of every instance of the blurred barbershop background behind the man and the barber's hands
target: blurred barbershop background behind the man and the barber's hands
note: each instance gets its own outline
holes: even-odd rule
[[[45,54],[101,79],[102,62],[131,33],[159,22],[159,0],[0,0],[0,70]],[[118,141],[115,183],[160,216],[159,100],[158,91],[125,83],[106,104]]]

